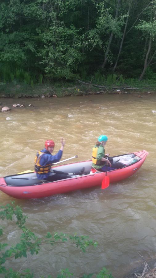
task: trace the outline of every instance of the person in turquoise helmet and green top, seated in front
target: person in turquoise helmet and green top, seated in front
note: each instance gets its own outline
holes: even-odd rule
[[[105,145],[108,141],[106,135],[100,135],[92,149],[92,167],[98,171],[110,171],[123,167],[121,162],[113,163],[113,158],[105,154]]]

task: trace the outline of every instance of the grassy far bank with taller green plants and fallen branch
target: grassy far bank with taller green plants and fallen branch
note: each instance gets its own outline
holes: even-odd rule
[[[120,90],[120,91],[119,91]],[[155,80],[143,80],[128,78],[115,74],[94,76],[91,81],[76,80],[75,82],[55,82],[53,84],[25,84],[19,82],[0,82],[0,97],[23,98],[23,97],[57,97],[78,96],[90,94],[122,94],[122,93],[146,93],[156,92]]]

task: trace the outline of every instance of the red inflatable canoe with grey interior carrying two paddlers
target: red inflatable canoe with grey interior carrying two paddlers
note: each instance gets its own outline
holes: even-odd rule
[[[113,157],[113,162],[122,162],[123,167],[107,172],[110,183],[126,179],[138,171],[146,159],[148,152],[145,150],[124,154]],[[0,190],[11,197],[18,199],[43,198],[54,194],[61,194],[73,190],[101,186],[105,178],[105,172],[92,173],[92,161],[75,162],[61,166],[55,166],[53,169],[76,173],[84,167],[80,176],[69,179],[62,179],[53,182],[43,183],[39,180],[35,172],[16,174],[0,178]]]

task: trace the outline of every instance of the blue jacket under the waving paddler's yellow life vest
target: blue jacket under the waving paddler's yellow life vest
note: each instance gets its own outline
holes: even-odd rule
[[[57,154],[52,155],[51,153],[48,152],[48,150],[46,148],[44,148],[43,150],[41,150],[42,153],[45,153],[41,156],[39,164],[41,166],[45,166],[47,164],[52,164],[55,162],[58,162],[61,157],[62,157],[62,153],[63,151],[59,150]],[[49,173],[45,173],[45,174],[37,174],[38,179],[46,179],[47,177],[49,177],[50,172]]]

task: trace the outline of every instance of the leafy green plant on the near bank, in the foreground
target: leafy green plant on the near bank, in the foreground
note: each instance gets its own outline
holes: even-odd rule
[[[1,277],[5,278],[32,278],[34,277],[33,273],[31,273],[30,269],[22,270],[23,266],[19,271],[14,271],[12,268],[6,269],[5,262],[8,259],[17,259],[25,257],[28,255],[38,254],[43,244],[50,244],[54,246],[55,244],[61,243],[70,243],[80,248],[83,252],[89,246],[96,247],[97,242],[89,239],[88,236],[78,236],[77,234],[69,235],[64,233],[50,233],[48,232],[45,237],[39,238],[36,236],[30,229],[25,226],[27,216],[23,214],[22,209],[19,206],[14,206],[14,202],[11,204],[6,204],[6,206],[0,206],[0,219],[7,219],[9,221],[14,220],[16,218],[16,225],[21,230],[22,234],[20,237],[20,241],[15,245],[8,247],[7,243],[0,243],[0,274]],[[3,235],[3,230],[0,228],[0,236]],[[82,278],[90,278],[93,274],[84,274]],[[100,276],[99,276],[100,275]],[[73,274],[69,272],[68,269],[61,270],[61,273],[57,276],[57,278],[66,278],[72,277]],[[44,276],[40,276],[44,278]],[[113,278],[111,274],[103,268],[98,275],[97,278]],[[51,275],[48,275],[47,278],[53,278]]]

